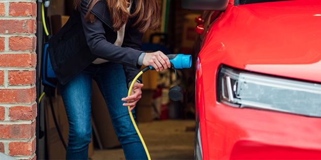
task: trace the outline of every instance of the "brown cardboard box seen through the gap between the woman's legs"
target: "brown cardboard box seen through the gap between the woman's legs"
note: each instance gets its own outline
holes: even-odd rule
[[[98,85],[92,81],[91,113],[104,148],[120,146],[111,122],[108,108]]]

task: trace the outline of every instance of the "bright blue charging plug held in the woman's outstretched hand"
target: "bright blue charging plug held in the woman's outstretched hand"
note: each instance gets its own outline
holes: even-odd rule
[[[171,62],[171,67],[176,69],[190,68],[191,67],[191,55],[183,55],[183,54],[170,54],[166,55]],[[154,69],[154,67],[149,66],[150,69]]]

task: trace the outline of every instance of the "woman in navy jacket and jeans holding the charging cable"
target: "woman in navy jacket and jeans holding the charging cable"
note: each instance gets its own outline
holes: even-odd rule
[[[132,82],[141,65],[157,71],[171,67],[162,52],[140,51],[143,32],[158,25],[157,1],[75,0],[74,6],[66,25],[49,41],[69,121],[66,159],[88,159],[92,79],[105,98],[126,159],[147,159],[126,106],[134,112],[141,98],[141,78]],[[126,97],[131,83],[132,95]]]

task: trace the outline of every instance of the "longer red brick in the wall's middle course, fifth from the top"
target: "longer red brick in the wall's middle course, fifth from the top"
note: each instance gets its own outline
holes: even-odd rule
[[[9,85],[36,84],[36,70],[10,70],[8,72]]]

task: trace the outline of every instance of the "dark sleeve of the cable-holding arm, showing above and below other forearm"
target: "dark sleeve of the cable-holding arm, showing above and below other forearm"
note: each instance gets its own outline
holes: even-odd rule
[[[133,19],[132,19],[133,20]],[[129,26],[127,26],[129,25]],[[142,47],[142,38],[143,38],[143,33],[138,31],[137,27],[133,27],[131,23],[126,24],[126,28],[128,28],[124,34],[124,40],[122,43],[122,47],[127,48],[130,47],[135,50],[140,50]],[[140,72],[140,67],[139,68],[133,68],[130,66],[125,66],[123,65],[123,69],[126,74],[126,82],[129,84],[130,82],[133,81],[135,76]],[[138,78],[140,83],[142,82],[142,76]]]

